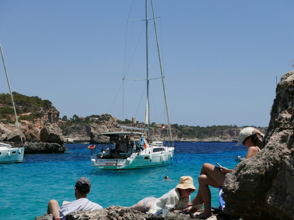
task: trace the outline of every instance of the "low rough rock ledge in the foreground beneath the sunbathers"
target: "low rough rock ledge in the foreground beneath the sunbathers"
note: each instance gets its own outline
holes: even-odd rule
[[[216,212],[211,213],[216,215]],[[126,209],[121,206],[110,206],[106,209],[94,211],[79,211],[66,216],[66,220],[191,220],[191,216],[183,213],[170,213],[166,216],[142,213],[132,209]],[[194,219],[197,219],[194,218]],[[44,214],[38,216],[35,220],[52,220],[52,215]]]

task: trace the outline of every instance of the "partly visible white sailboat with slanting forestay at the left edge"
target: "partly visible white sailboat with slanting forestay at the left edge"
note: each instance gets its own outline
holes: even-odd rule
[[[4,65],[4,69],[5,69],[6,79],[7,79],[7,83],[8,83],[8,87],[9,87],[9,92],[10,92],[10,96],[11,96],[11,101],[12,101],[12,105],[13,105],[13,109],[14,109],[14,115],[15,115],[15,119],[16,119],[15,126],[18,127],[19,135],[21,138],[21,146],[19,144],[19,147],[17,147],[17,148],[12,147],[10,144],[4,144],[4,143],[0,142],[0,163],[22,163],[23,158],[24,158],[24,144],[22,141],[21,131],[20,131],[17,116],[16,116],[16,110],[15,110],[14,101],[13,101],[13,97],[12,97],[12,93],[11,93],[11,88],[10,88],[9,79],[8,79],[8,75],[7,75],[7,71],[6,71],[6,65],[4,62],[4,56],[3,56],[1,44],[0,44],[0,51],[1,51],[1,56],[2,56],[3,65]]]

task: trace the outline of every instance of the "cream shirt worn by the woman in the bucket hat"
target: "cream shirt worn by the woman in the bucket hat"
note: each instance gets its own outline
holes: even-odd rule
[[[154,200],[148,213],[155,214],[158,211],[162,211],[162,216],[165,216],[171,211],[171,209],[186,208],[187,202],[190,202],[190,199],[190,196],[189,198],[184,197],[182,199],[179,190],[174,188],[162,197]]]

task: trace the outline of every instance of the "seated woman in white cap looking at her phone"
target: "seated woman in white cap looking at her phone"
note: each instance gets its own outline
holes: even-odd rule
[[[253,127],[246,127],[239,133],[239,141],[236,145],[243,143],[248,147],[246,158],[253,157],[260,151],[261,139],[257,136],[264,137],[264,134]],[[196,216],[197,219],[207,219],[211,216],[211,192],[208,186],[223,187],[226,174],[233,170],[223,166],[214,166],[210,163],[204,163],[198,177],[199,188],[196,197],[188,206],[204,203],[204,211]]]

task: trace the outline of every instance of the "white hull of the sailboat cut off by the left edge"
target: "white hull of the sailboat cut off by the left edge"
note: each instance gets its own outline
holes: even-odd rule
[[[20,153],[19,153],[20,149]],[[10,153],[9,153],[10,152]],[[0,163],[22,163],[24,148],[0,147]]]

